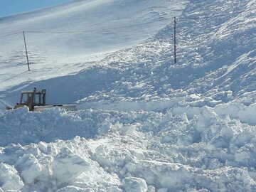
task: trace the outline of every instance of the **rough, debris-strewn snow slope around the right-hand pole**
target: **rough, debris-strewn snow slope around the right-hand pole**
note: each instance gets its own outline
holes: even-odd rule
[[[187,7],[178,19],[176,64],[173,26],[169,25],[139,46],[106,58],[103,62],[113,70],[110,76],[117,76],[116,69],[122,75],[81,102],[117,97],[147,101],[191,94],[203,99],[202,105],[237,98],[247,105],[255,102],[255,2],[191,1]]]

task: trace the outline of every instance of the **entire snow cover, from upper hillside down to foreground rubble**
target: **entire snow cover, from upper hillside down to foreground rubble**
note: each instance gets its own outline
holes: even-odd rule
[[[113,28],[124,21],[138,25],[90,36],[95,52],[85,55],[78,46],[83,33],[58,34],[75,38],[75,60],[65,54],[67,42],[50,40],[55,53],[48,58],[60,51],[68,63],[55,60],[56,68],[65,65],[61,72],[52,61],[40,70],[33,63],[31,72],[1,84],[2,109],[14,105],[21,90],[38,87],[47,89],[48,102],[77,103],[79,110],[2,110],[0,191],[256,191],[256,1],[81,0],[2,18],[0,28],[21,19],[41,24],[10,23],[10,33],[43,26],[59,31],[67,24],[81,30],[71,21],[83,10],[91,28],[107,28],[106,21]],[[31,42],[48,49],[44,38]],[[13,55],[5,53],[2,58]],[[90,60],[90,54],[99,56]],[[13,73],[17,63],[10,61],[1,63]]]

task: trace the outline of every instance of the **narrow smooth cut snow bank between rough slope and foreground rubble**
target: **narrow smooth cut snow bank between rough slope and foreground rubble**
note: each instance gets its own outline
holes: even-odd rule
[[[190,96],[192,97],[192,96]],[[201,106],[206,107],[201,107]],[[210,107],[213,105],[213,107]],[[208,107],[209,106],[209,107]],[[204,100],[192,100],[189,97],[174,97],[172,99],[159,99],[148,102],[144,101],[99,101],[99,102],[82,102],[78,105],[78,109],[104,109],[104,110],[117,110],[122,112],[135,111],[154,111],[163,112],[171,110],[173,114],[186,113],[189,119],[194,115],[201,115],[202,109],[212,110],[220,117],[230,116],[233,119],[239,119],[241,122],[247,124],[256,124],[256,104],[244,105],[241,102],[228,102],[221,104],[221,102],[208,98]],[[208,118],[207,114],[204,114],[203,118]]]

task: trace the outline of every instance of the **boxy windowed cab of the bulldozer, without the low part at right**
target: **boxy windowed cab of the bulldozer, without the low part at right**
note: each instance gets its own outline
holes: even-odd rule
[[[45,106],[46,105],[46,90],[38,91],[36,88],[33,91],[23,91],[21,92],[20,103],[14,108],[28,106],[29,110],[32,111],[35,106]]]

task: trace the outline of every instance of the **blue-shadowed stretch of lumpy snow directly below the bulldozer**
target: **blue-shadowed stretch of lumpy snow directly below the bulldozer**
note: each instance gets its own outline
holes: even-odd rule
[[[76,135],[94,138],[104,131],[109,114],[93,114],[90,110],[69,112],[55,107],[43,112],[29,112],[28,107],[0,114],[0,146],[10,143],[53,142],[55,139],[72,139]],[[61,134],[60,134],[61,133]]]

